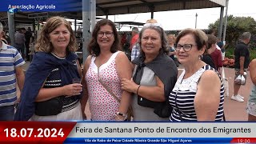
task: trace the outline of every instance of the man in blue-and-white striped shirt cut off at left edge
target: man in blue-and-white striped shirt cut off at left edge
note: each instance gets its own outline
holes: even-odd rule
[[[2,23],[0,22],[0,39],[2,38]],[[0,41],[0,121],[14,120],[14,104],[17,98],[16,84],[19,90],[23,89],[25,64],[21,54],[13,46]]]

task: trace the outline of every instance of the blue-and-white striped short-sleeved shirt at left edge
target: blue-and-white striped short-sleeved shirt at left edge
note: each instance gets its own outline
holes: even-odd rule
[[[2,42],[0,48],[0,106],[11,106],[17,99],[15,68],[25,64],[13,46]]]

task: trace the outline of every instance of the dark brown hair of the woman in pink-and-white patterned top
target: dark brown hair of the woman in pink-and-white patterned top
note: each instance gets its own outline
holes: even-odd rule
[[[101,29],[101,26],[106,26],[106,25],[111,26],[114,34],[114,42],[110,48],[110,52],[114,53],[118,50],[121,50],[121,43],[118,35],[118,30],[116,29],[114,22],[110,21],[109,19],[102,19],[98,21],[97,24],[94,26],[92,38],[90,39],[90,42],[88,44],[89,54],[92,54],[97,57],[101,53],[101,49],[98,46],[98,42],[97,42],[98,31]]]

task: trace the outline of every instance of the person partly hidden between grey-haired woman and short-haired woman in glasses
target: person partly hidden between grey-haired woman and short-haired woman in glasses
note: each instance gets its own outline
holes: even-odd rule
[[[168,55],[170,56],[170,58],[172,58],[174,60],[176,66],[178,67],[179,63],[178,63],[178,59],[176,57],[176,51],[175,51],[175,47],[174,47],[175,35],[168,34],[167,39],[168,39],[168,46],[170,47],[170,52]]]

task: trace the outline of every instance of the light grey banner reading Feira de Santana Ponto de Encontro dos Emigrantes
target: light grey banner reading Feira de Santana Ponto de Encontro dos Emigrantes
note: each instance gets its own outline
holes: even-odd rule
[[[254,128],[255,126],[255,128]],[[254,122],[78,122],[68,138],[255,138]]]

